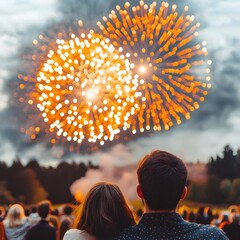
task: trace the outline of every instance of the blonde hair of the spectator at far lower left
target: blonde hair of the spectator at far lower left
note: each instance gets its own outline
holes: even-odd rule
[[[20,204],[14,204],[9,208],[4,222],[7,227],[14,228],[23,225],[26,220],[23,207]]]

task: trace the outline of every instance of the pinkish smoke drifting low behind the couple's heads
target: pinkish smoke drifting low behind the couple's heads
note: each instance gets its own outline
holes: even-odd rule
[[[137,162],[140,159],[136,161],[134,156],[129,147],[122,144],[114,146],[109,153],[101,156],[99,169],[88,170],[85,177],[80,178],[71,185],[72,195],[74,196],[79,192],[85,195],[98,182],[112,182],[120,187],[129,201],[138,199],[136,194],[136,186],[138,184],[136,169]],[[186,163],[186,166],[189,180],[206,182],[207,172],[205,164]]]

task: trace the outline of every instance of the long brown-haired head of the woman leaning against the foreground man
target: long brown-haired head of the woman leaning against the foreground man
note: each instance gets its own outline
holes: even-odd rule
[[[76,218],[76,227],[107,239],[135,224],[132,211],[115,184],[98,183],[87,193]]]

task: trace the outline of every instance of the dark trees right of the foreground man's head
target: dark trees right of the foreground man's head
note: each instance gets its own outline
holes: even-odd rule
[[[227,145],[222,156],[206,164],[207,182],[190,183],[188,199],[212,204],[240,204],[240,149],[234,154]]]

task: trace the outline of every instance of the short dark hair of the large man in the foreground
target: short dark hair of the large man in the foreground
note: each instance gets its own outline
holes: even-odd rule
[[[164,151],[146,155],[137,168],[143,198],[151,210],[176,208],[187,180],[187,169],[181,159]]]

